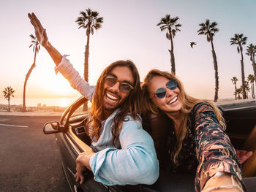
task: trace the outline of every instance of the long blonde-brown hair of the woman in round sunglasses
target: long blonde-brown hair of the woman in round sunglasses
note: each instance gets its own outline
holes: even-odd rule
[[[151,111],[154,113],[158,113],[159,112],[159,108],[153,103],[153,101],[151,101],[150,99],[150,95],[148,92],[148,83],[153,79],[153,77],[155,76],[162,76],[162,77],[166,77],[169,80],[176,80],[177,84],[178,84],[178,88],[180,90],[180,97],[181,97],[181,103],[182,103],[182,107],[181,107],[181,126],[178,128],[178,136],[177,136],[177,147],[176,147],[176,151],[173,152],[173,162],[178,165],[178,161],[177,161],[177,157],[178,157],[178,153],[180,153],[181,151],[181,147],[182,147],[182,142],[184,140],[184,138],[186,137],[187,134],[187,119],[189,116],[189,112],[191,112],[191,110],[193,109],[193,107],[195,106],[195,104],[198,104],[200,102],[206,102],[208,104],[211,105],[211,107],[213,107],[214,112],[217,116],[217,119],[219,120],[219,124],[220,126],[222,126],[223,129],[226,128],[225,125],[225,120],[222,117],[222,112],[214,106],[214,104],[209,101],[209,100],[203,100],[203,99],[195,99],[192,96],[189,96],[185,91],[184,91],[184,87],[181,83],[180,80],[178,80],[178,78],[169,73],[169,72],[162,72],[158,69],[152,69],[150,72],[148,72],[148,74],[146,75],[143,85],[142,85],[142,91],[143,91],[143,111]]]

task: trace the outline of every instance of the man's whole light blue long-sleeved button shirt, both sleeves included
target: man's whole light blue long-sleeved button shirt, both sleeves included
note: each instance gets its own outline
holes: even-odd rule
[[[80,77],[64,55],[55,70],[69,80],[72,88],[78,90],[89,101],[92,101],[95,87]],[[159,176],[159,163],[154,149],[153,139],[143,130],[141,121],[129,114],[124,118],[117,147],[111,140],[113,112],[102,122],[102,134],[92,148],[97,152],[90,159],[94,180],[105,185],[153,184]]]

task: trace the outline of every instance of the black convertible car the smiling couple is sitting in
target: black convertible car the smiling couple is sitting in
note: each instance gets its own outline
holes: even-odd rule
[[[85,182],[80,185],[75,181],[76,163],[78,154],[91,150],[89,147],[91,140],[86,135],[84,125],[86,114],[82,107],[86,99],[81,97],[71,104],[63,112],[60,121],[45,123],[45,134],[56,134],[56,142],[62,156],[62,166],[67,177],[71,191],[195,191],[194,175],[190,174],[169,174],[160,172],[159,179],[154,185],[114,185],[106,186],[94,181],[94,175],[86,169],[84,175]],[[241,150],[256,150],[256,103],[241,105],[219,106],[227,123],[227,134],[229,134],[234,147]],[[159,164],[167,161],[165,155],[165,139],[167,133],[166,126],[168,119],[165,115],[147,114],[143,116],[143,128],[149,134],[155,135],[154,142],[159,158]],[[161,127],[159,132],[159,127]],[[165,128],[166,127],[166,128]],[[154,132],[157,130],[157,134]],[[256,191],[256,154],[254,153],[243,165],[246,187],[248,191]],[[150,177],[150,175],[145,175]]]

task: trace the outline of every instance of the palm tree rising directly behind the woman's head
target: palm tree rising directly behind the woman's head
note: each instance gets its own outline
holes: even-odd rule
[[[181,31],[179,28],[181,27],[180,23],[177,23],[178,17],[171,18],[169,14],[165,15],[165,18],[161,18],[160,22],[157,26],[160,26],[161,31],[167,30],[166,38],[170,40],[170,64],[171,64],[171,72],[176,74],[176,67],[175,67],[175,58],[173,53],[173,39],[176,35],[177,31]]]

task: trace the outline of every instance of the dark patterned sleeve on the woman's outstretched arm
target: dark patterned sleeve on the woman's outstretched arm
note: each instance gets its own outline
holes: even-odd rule
[[[201,191],[206,181],[217,172],[236,176],[244,186],[241,165],[236,150],[209,104],[195,107],[195,144],[199,165],[195,177],[196,190]]]

